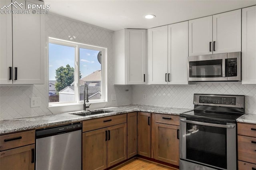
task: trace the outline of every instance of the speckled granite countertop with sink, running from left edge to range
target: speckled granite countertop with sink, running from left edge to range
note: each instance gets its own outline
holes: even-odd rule
[[[71,113],[61,113],[61,114],[53,114],[53,115],[4,120],[4,121],[0,121],[0,134],[17,132],[20,130],[29,130],[29,129],[40,128],[40,127],[47,127],[52,125],[61,125],[64,123],[72,123],[77,121],[84,121],[89,119],[119,115],[119,114],[136,112],[136,111],[180,115],[181,113],[185,113],[192,110],[192,109],[147,106],[147,105],[124,105],[124,106],[108,107],[108,108],[102,108],[102,109],[96,109],[96,110],[103,110],[103,109],[111,112],[102,113],[98,115],[90,115],[85,117],[74,115],[75,113],[79,113],[79,112],[71,112]]]

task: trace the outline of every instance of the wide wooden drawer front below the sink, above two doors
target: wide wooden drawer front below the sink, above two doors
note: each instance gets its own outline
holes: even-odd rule
[[[83,121],[83,132],[126,123],[126,114]]]

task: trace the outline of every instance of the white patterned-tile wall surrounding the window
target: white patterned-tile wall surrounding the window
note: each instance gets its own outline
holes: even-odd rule
[[[45,15],[45,33],[48,36],[69,40],[76,36],[76,42],[108,48],[108,102],[102,105],[92,104],[91,108],[127,105],[132,103],[131,86],[114,86],[113,32],[82,22],[57,16]],[[47,42],[46,42],[47,47]],[[46,53],[46,73],[44,85],[1,86],[0,120],[52,114],[48,109],[48,49]],[[128,90],[128,91],[127,91]],[[111,101],[111,94],[116,94],[116,101]],[[30,108],[30,97],[41,97],[41,107]],[[63,109],[64,108],[64,109]],[[73,107],[74,108],[74,107]],[[70,108],[55,109],[54,113],[68,111]],[[82,105],[76,107],[82,110]]]

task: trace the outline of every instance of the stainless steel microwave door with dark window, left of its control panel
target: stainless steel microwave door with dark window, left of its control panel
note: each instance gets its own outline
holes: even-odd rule
[[[188,81],[228,81],[228,53],[188,57]]]

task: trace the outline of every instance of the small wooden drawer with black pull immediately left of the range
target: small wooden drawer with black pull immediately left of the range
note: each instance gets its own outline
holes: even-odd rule
[[[180,126],[180,117],[174,115],[155,114],[155,122]]]

